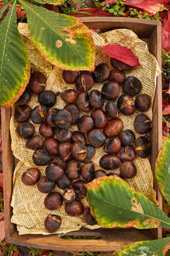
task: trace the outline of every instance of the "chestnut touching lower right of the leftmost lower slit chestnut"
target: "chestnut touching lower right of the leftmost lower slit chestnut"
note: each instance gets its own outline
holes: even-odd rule
[[[37,188],[41,193],[50,193],[54,190],[55,183],[47,179],[47,176],[43,176],[37,183]]]

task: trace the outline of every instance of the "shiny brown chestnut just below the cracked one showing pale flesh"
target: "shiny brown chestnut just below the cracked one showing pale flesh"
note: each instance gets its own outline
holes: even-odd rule
[[[83,205],[81,201],[73,201],[71,203],[66,203],[64,209],[68,215],[79,216],[82,215]]]

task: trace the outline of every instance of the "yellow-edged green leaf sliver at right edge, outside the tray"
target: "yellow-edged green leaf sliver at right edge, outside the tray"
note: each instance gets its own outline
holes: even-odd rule
[[[155,174],[161,193],[170,205],[170,137],[163,137],[155,166]]]

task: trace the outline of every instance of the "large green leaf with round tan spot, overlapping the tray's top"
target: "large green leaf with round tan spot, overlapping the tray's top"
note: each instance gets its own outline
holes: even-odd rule
[[[95,47],[88,27],[75,17],[19,2],[33,43],[46,59],[62,69],[94,69]]]

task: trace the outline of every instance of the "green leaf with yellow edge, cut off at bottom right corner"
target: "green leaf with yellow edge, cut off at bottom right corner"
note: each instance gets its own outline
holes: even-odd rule
[[[170,237],[129,244],[113,253],[114,256],[163,256],[170,250]]]

